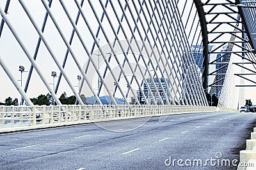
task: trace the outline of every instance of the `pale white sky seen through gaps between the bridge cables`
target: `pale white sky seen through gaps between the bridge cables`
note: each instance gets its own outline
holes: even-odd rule
[[[5,6],[6,1],[0,1],[0,8],[3,10]],[[25,3],[26,6],[29,8],[30,13],[32,13],[33,17],[36,18],[36,24],[42,25],[42,21],[44,20],[45,10],[44,6],[42,5],[41,1],[29,1]],[[72,1],[65,1],[65,4],[68,6],[68,10],[70,10],[70,13],[72,14],[73,18],[76,18],[77,15],[77,8],[76,4]],[[88,2],[85,2],[84,5],[88,5]],[[99,4],[95,4],[96,6]],[[54,1],[52,3],[52,10],[54,11],[54,16],[58,20],[58,23],[60,24],[61,30],[69,39],[70,34],[72,32],[72,25],[67,24],[69,23],[67,17],[65,16],[64,11],[61,9],[60,4],[58,1]],[[92,11],[86,10],[85,11],[87,16],[92,15]],[[102,13],[102,10],[99,10],[99,15]],[[38,34],[36,33],[35,29],[33,28],[33,25],[31,25],[31,22],[29,21],[28,17],[26,16],[26,13],[22,10],[22,7],[20,6],[18,1],[12,1],[10,3],[10,7],[8,10],[7,17],[10,19],[13,27],[15,28],[15,31],[17,31],[17,34],[19,34],[20,38],[22,39],[24,45],[28,49],[28,52],[31,56],[33,56],[33,53],[35,52],[35,46],[38,41]],[[92,26],[93,30],[96,30],[98,25],[95,22],[95,20],[92,20],[92,18],[88,17],[88,20],[90,21],[90,24]],[[113,20],[113,22],[116,22]],[[92,38],[90,36],[86,36],[88,30],[83,28],[86,27],[86,25],[83,22],[79,22],[78,27],[81,29],[81,32],[85,35],[84,41],[86,42],[86,45],[92,46]],[[109,29],[109,28],[106,28]],[[86,32],[87,31],[87,32]],[[52,51],[58,58],[59,62],[63,62],[63,57],[65,56],[67,47],[63,43],[61,37],[58,35],[54,25],[52,24],[51,19],[47,21],[47,25],[45,27],[45,37],[47,38],[47,41],[49,45],[52,48]],[[99,35],[102,36],[102,35]],[[72,43],[72,48],[74,49],[74,52],[76,53],[77,60],[79,63],[84,66],[86,64],[87,60],[84,55],[86,53],[83,50],[83,46],[81,46],[80,43],[78,43],[78,38],[75,35],[74,41]],[[106,41],[104,39],[100,40],[100,45],[105,45]],[[97,52],[97,51],[95,51]],[[11,70],[13,76],[20,80],[20,72],[19,72],[19,66],[22,65],[25,67],[25,71],[29,70],[29,67],[31,66],[28,58],[22,52],[22,49],[20,48],[17,41],[14,39],[12,33],[8,29],[6,25],[4,25],[3,32],[0,38],[0,57],[4,60],[5,64],[8,66],[8,68]],[[57,75],[60,74],[60,71],[56,64],[54,64],[54,60],[52,60],[51,55],[49,55],[49,52],[47,52],[47,49],[45,48],[45,45],[42,43],[39,52],[38,57],[36,59],[36,63],[40,67],[45,79],[52,87],[52,76],[51,72],[56,71]],[[65,71],[68,74],[68,77],[70,78],[70,81],[72,85],[77,89],[78,87],[78,80],[77,75],[79,75],[79,69],[77,69],[76,64],[74,60],[71,59],[71,56],[68,55],[67,59],[67,65],[65,66]],[[239,72],[239,70],[236,70]],[[28,73],[24,72],[22,73],[22,87],[24,87],[26,83],[26,79],[28,77]],[[93,81],[93,88],[97,89],[97,77],[92,76],[91,78]],[[256,80],[255,77],[252,77],[253,80]],[[58,80],[58,78],[54,79],[55,82]],[[19,81],[20,83],[20,81]],[[0,102],[4,102],[4,99],[7,97],[18,98],[20,101],[20,94],[15,89],[14,85],[8,78],[8,76],[4,73],[3,68],[0,67]],[[245,98],[246,99],[252,99],[253,103],[256,103],[256,93],[255,93],[256,87],[246,87],[245,89]],[[62,78],[60,90],[58,90],[57,96],[60,96],[63,92],[67,92],[68,96],[73,95],[72,91],[68,87],[67,82]],[[40,80],[38,74],[36,74],[35,70],[33,71],[31,82],[29,84],[28,88],[28,97],[37,97],[40,94],[47,94],[48,90],[44,86],[42,80]],[[88,94],[90,95],[90,94]],[[92,94],[91,94],[92,95]]]

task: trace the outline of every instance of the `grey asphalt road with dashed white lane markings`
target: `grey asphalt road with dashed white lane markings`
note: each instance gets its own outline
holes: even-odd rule
[[[255,122],[193,113],[0,134],[0,169],[236,169]]]

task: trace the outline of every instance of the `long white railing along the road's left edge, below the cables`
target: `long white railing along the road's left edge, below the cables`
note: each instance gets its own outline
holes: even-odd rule
[[[36,126],[45,124],[103,122],[128,118],[212,111],[216,111],[216,107],[170,105],[1,106],[0,129],[4,125],[10,124]]]

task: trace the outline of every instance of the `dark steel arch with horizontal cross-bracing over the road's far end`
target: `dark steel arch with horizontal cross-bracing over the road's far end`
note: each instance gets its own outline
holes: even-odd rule
[[[249,1],[246,3],[245,1],[207,0],[194,1],[194,3],[200,17],[204,46],[204,89],[211,89],[210,94],[216,94],[219,97],[220,107],[237,108],[237,106],[229,106],[228,103],[232,103],[230,101],[236,98],[234,97],[234,88],[246,87],[246,85],[236,85],[234,75],[255,83],[251,78],[246,78],[246,76],[255,74],[255,70],[249,69],[248,65],[250,64],[254,69],[256,68],[255,41],[253,39],[255,9],[237,8],[235,6],[240,3],[252,5],[252,2]],[[215,46],[215,48],[212,48],[212,46]],[[210,56],[214,54],[217,55],[216,59],[209,60]],[[241,61],[232,62],[232,57],[239,57]],[[209,71],[208,68],[211,66],[216,66],[216,69]],[[243,73],[244,71],[236,73],[237,70],[234,72],[232,68],[234,66],[246,69],[248,73]],[[205,74],[207,71],[208,74]],[[208,78],[214,77],[214,81],[207,86],[205,86],[206,76]],[[233,92],[230,90],[233,90]],[[234,101],[234,103],[237,103],[237,101]]]

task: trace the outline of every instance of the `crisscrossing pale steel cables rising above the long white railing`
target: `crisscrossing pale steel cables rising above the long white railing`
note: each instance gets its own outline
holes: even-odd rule
[[[35,4],[41,6],[40,15],[44,17],[36,17],[32,12],[33,6],[22,0],[6,1],[4,10],[0,6],[1,32],[12,32],[13,41],[19,44],[22,56],[24,59],[27,57],[31,64],[24,90],[19,87],[4,60],[0,60],[1,66],[27,104],[31,104],[26,92],[35,70],[57,104],[61,104],[57,93],[64,78],[80,104],[84,104],[81,98],[84,94],[93,97],[92,104],[102,104],[102,97],[105,97],[109,104],[207,106],[202,81],[191,53],[190,39],[195,39],[193,34],[197,33],[186,30],[188,20],[184,22],[184,11],[181,12],[179,1],[42,0]],[[12,6],[18,5],[16,8],[19,11],[13,15]],[[31,34],[28,38],[37,39],[33,55],[26,39],[22,39],[23,34],[28,32],[20,31],[15,23],[17,16],[30,23],[28,30],[33,31],[33,36]],[[41,27],[38,26],[40,20]],[[71,27],[71,32],[67,33],[63,25]],[[58,36],[60,46],[57,49],[52,45],[55,40],[49,36],[49,30]],[[199,36],[196,41],[200,41]],[[59,69],[54,89],[45,78],[41,63],[37,62],[43,55],[40,51],[42,46],[45,48],[44,55],[51,57],[54,66]],[[77,50],[76,46],[81,49]],[[59,47],[65,49],[63,57],[60,57],[61,52],[56,52]],[[6,52],[1,55],[6,55]],[[81,75],[79,90],[71,81],[74,73],[70,74],[71,71],[66,69],[68,60],[74,62],[73,69]]]

